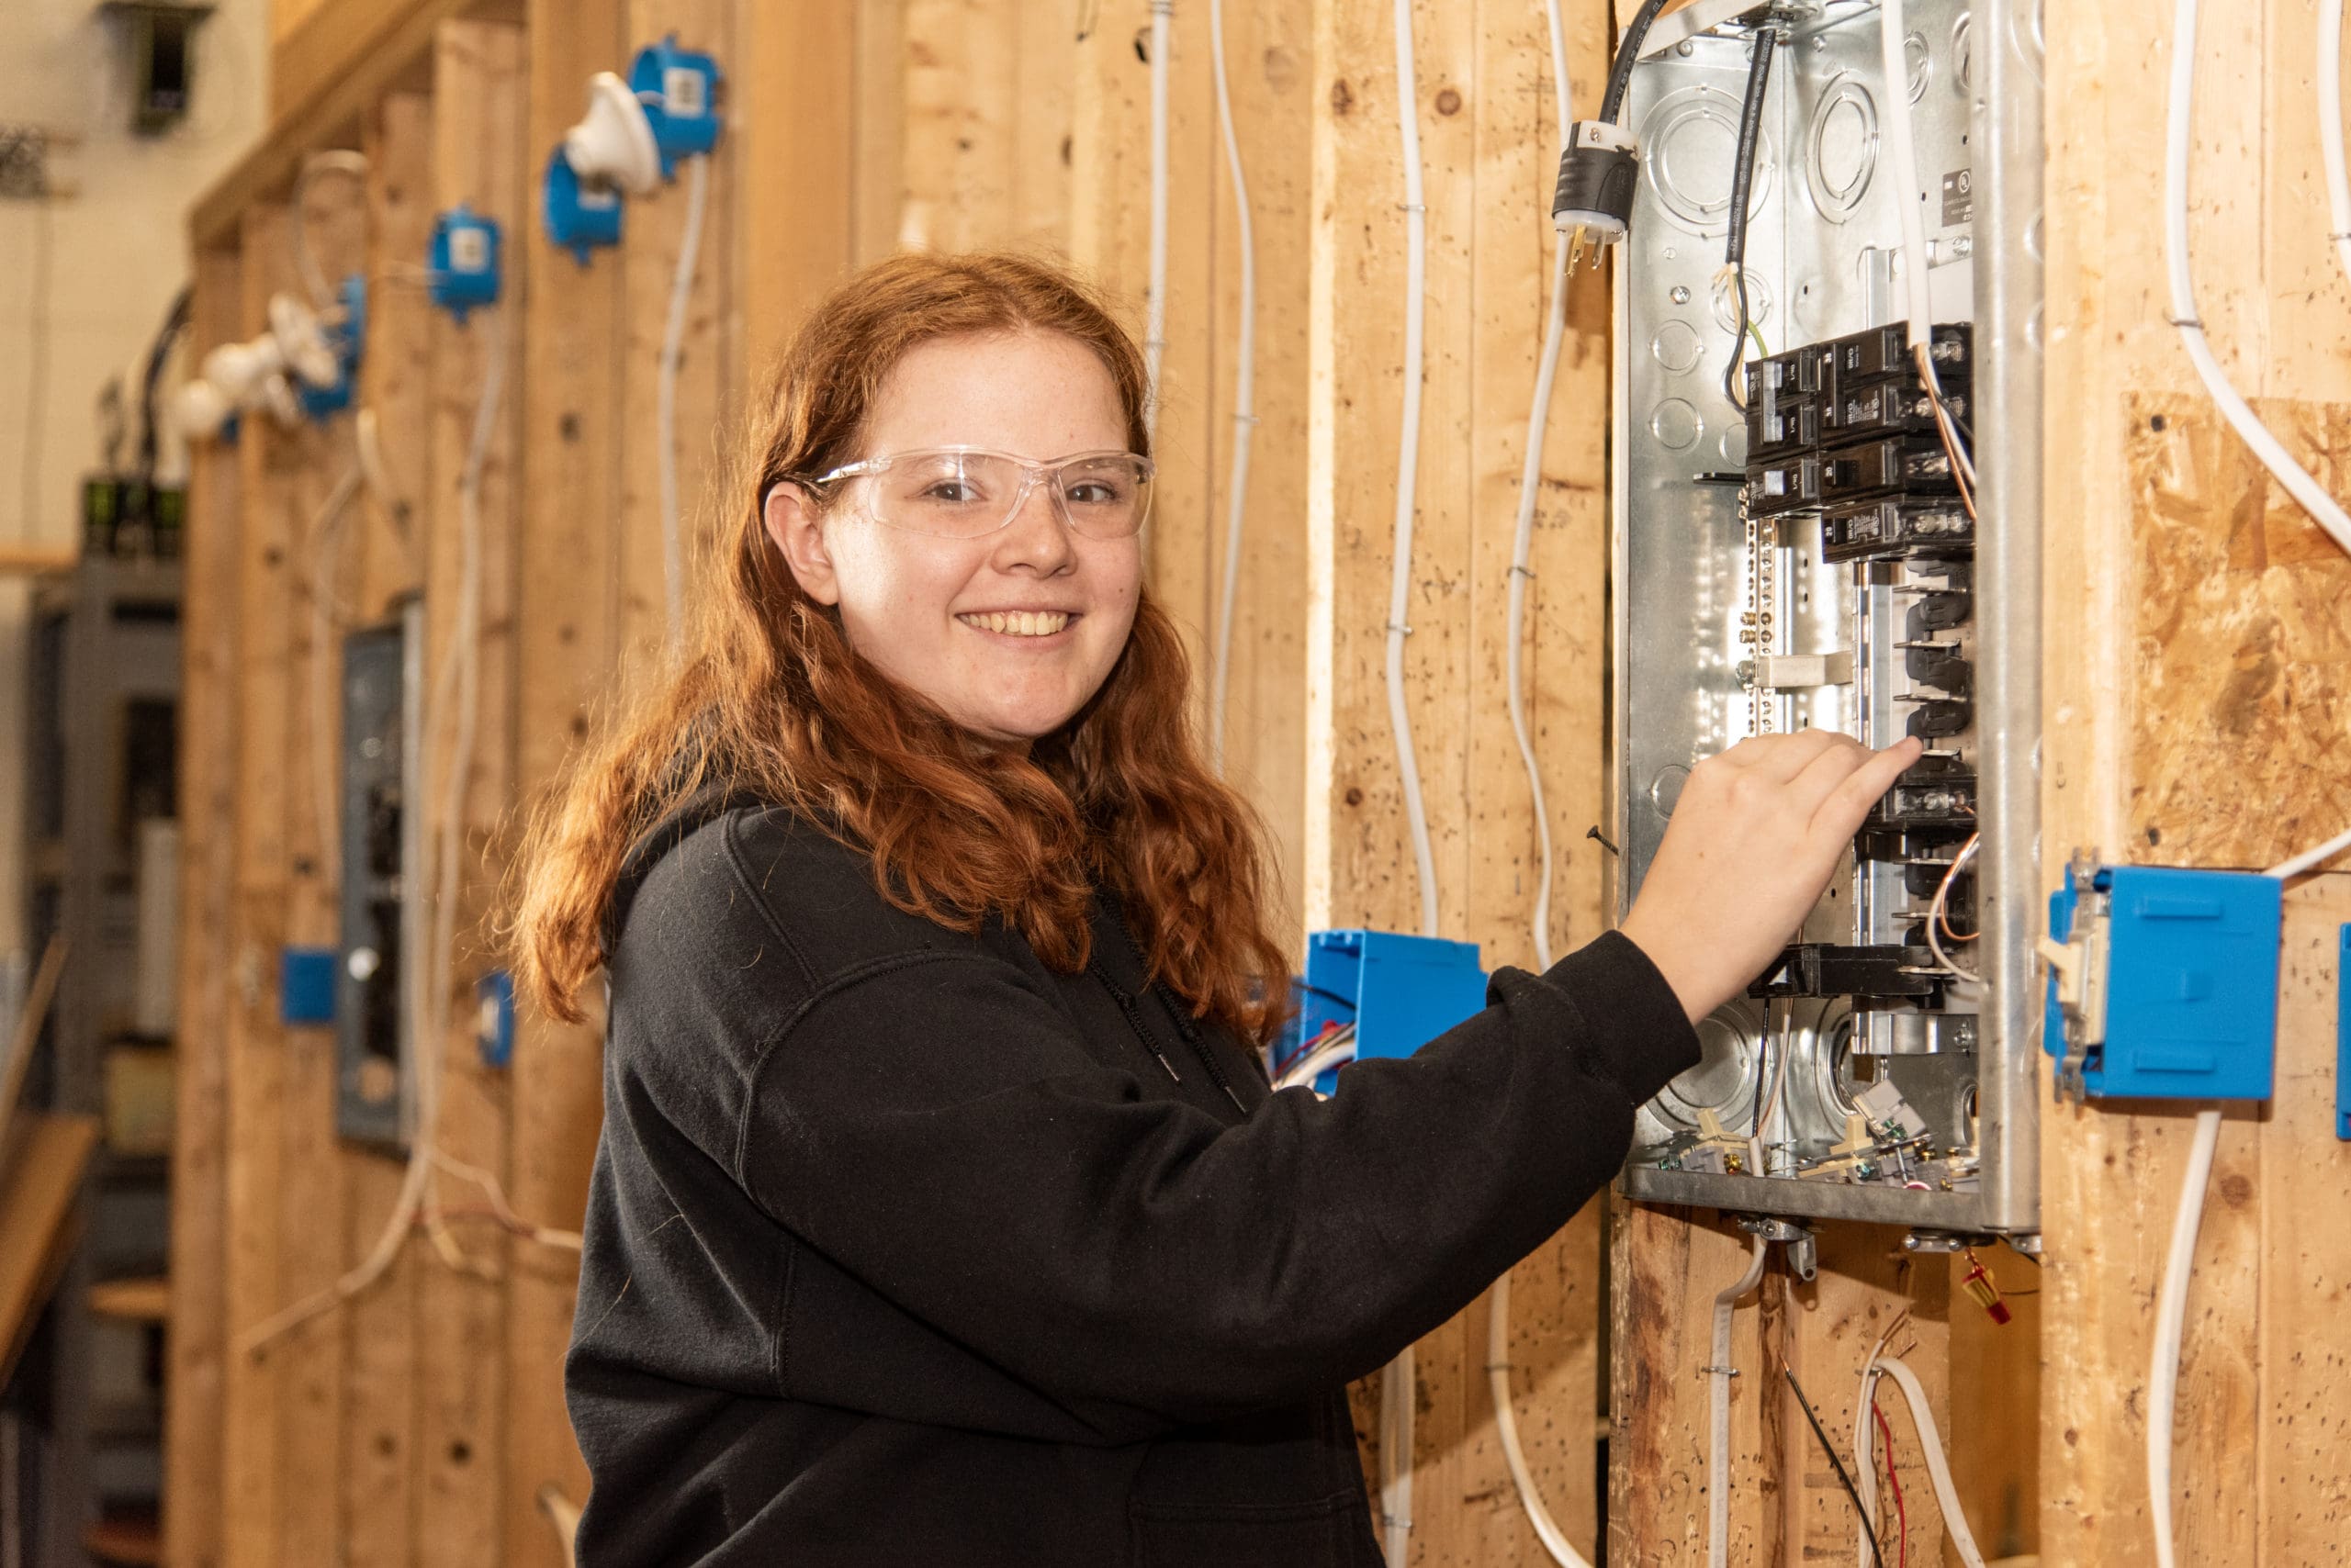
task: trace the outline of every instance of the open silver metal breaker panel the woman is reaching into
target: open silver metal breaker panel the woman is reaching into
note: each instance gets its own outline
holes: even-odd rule
[[[1700,1025],[1700,1065],[1641,1107],[1625,1185],[1742,1213],[1982,1232],[1984,992],[1968,976],[1984,849],[1977,628],[1996,585],[1977,574],[1968,494],[1991,395],[1972,331],[1970,9],[1907,7],[1900,82],[1886,80],[1874,5],[1709,16],[1712,31],[1634,71],[1625,115],[1641,179],[1615,252],[1620,905],[1702,757],[1806,726],[1874,748],[1916,736],[1925,755],[1796,945]],[[1740,181],[1766,31],[1775,59]],[[1909,110],[1911,179],[1890,162],[1890,94]],[[1726,266],[1737,183],[1744,322]],[[1923,195],[1921,334],[1904,190]],[[1737,896],[1733,877],[1723,898]]]

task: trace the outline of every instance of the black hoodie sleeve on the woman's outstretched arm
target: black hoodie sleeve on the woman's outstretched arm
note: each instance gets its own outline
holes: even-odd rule
[[[1338,1095],[1244,1124],[1145,1098],[1023,971],[905,954],[818,987],[750,1065],[734,1164],[804,1244],[1105,1441],[1357,1378],[1446,1321],[1622,1164],[1697,1060],[1603,936]]]

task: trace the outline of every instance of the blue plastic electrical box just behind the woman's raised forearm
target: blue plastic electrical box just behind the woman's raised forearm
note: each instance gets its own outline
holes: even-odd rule
[[[1326,1023],[1354,1025],[1354,1053],[1411,1056],[1486,1006],[1476,943],[1396,931],[1317,931],[1307,938],[1298,1041]],[[1331,1079],[1317,1079],[1328,1091]]]

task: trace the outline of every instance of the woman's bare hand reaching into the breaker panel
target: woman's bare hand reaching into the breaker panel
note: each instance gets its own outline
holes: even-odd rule
[[[1690,771],[1622,926],[1690,1023],[1780,957],[1869,806],[1923,750],[1806,729],[1740,741]]]

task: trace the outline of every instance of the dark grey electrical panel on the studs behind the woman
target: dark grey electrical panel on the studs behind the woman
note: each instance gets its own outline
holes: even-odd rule
[[[397,1150],[411,1121],[423,604],[343,639],[336,1131]]]

